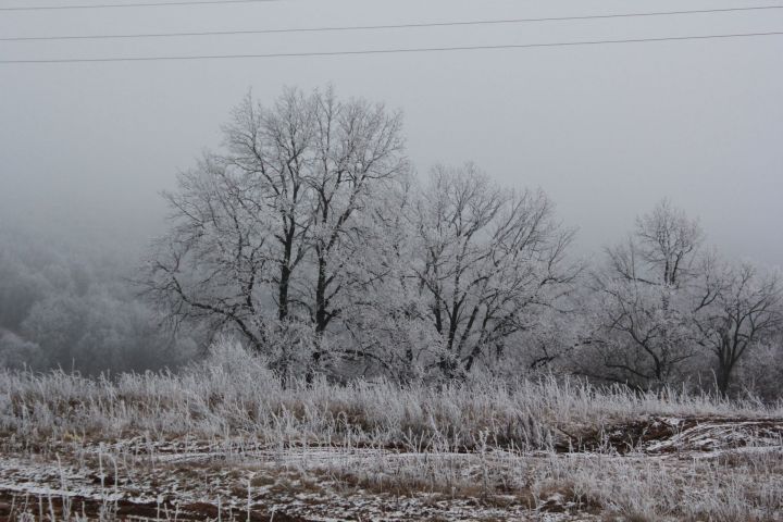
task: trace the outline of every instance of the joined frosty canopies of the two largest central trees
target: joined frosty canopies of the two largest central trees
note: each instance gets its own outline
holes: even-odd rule
[[[248,96],[223,132],[223,150],[165,195],[172,226],[147,266],[175,321],[273,357],[295,328],[310,369],[371,360],[452,377],[522,348],[519,334],[580,273],[567,259],[574,232],[542,191],[496,186],[472,164],[420,184],[401,116],[382,104],[331,88],[288,89],[271,107]],[[382,343],[364,333],[384,331]]]

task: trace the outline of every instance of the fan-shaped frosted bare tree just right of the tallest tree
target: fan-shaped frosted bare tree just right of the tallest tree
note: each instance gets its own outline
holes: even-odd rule
[[[469,372],[482,355],[501,357],[579,273],[566,259],[573,231],[555,220],[549,199],[497,187],[473,164],[434,169],[414,216],[415,274],[447,376]]]

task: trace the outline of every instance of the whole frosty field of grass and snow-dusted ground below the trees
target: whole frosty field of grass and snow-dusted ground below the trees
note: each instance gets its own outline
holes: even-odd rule
[[[0,373],[0,520],[783,520],[783,411],[544,378]]]

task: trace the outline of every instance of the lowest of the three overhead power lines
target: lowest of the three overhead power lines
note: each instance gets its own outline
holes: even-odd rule
[[[314,51],[314,52],[274,52],[265,54],[202,54],[189,57],[127,57],[127,58],[66,58],[50,60],[0,60],[0,64],[11,63],[100,63],[100,62],[151,62],[151,61],[174,61],[174,60],[229,60],[248,58],[300,58],[300,57],[338,57],[338,55],[361,55],[361,54],[393,54],[412,52],[446,52],[446,51],[476,51],[489,49],[531,49],[543,47],[576,47],[595,46],[605,44],[639,44],[655,41],[682,41],[682,40],[708,40],[718,38],[747,38],[759,36],[780,36],[783,32],[769,33],[737,33],[723,35],[696,35],[696,36],[667,36],[661,38],[627,38],[622,40],[586,40],[586,41],[557,41],[548,44],[519,44],[498,46],[462,46],[462,47],[419,47],[408,49],[366,49],[358,51]]]

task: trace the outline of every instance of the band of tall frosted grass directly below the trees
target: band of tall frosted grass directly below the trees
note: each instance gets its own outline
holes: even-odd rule
[[[423,449],[493,446],[550,449],[584,431],[645,415],[783,417],[783,406],[669,390],[635,394],[575,380],[475,380],[440,387],[318,381],[283,387],[261,361],[231,344],[179,374],[90,380],[52,372],[0,372],[0,430],[25,436],[107,439],[252,435],[268,443],[327,443]]]

